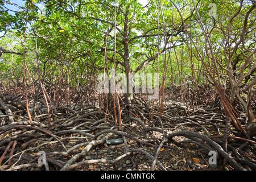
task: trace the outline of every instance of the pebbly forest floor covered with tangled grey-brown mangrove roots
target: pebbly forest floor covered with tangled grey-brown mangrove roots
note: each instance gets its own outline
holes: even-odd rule
[[[226,120],[221,109],[203,106],[187,115],[181,102],[170,100],[166,102],[163,117],[158,117],[155,108],[151,120],[148,117],[151,108],[136,107],[146,120],[143,124],[138,122],[143,119],[138,114],[137,120],[122,121],[121,131],[112,117],[105,117],[104,111],[92,106],[84,109],[63,106],[51,115],[51,126],[48,126],[46,106],[36,111],[32,123],[25,116],[14,115],[14,123],[0,127],[1,168],[51,171],[256,169],[253,144],[229,138],[225,148],[223,138],[213,137],[225,135]],[[7,115],[0,117],[1,122],[7,120]],[[240,115],[241,123],[244,117]],[[236,135],[233,129],[229,129],[230,136]],[[119,141],[117,144],[107,142],[115,139]],[[42,160],[40,151],[46,154],[46,164],[39,162]],[[217,165],[209,164],[209,151],[217,152]]]

